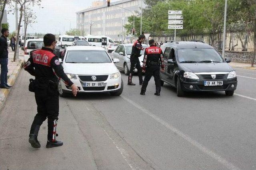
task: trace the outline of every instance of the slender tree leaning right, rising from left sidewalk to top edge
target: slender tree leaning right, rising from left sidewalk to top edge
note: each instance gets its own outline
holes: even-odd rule
[[[18,4],[18,6],[19,6],[18,8],[19,8],[19,11],[20,11],[20,19],[19,19],[19,23],[18,23],[18,33],[16,35],[17,40],[18,40],[18,37],[20,35],[20,24],[21,24],[21,21],[22,21],[22,16],[24,15],[23,12],[24,12],[25,4],[26,4],[26,6],[35,6],[35,5],[40,6],[41,0],[13,0],[13,1]],[[18,48],[18,43],[19,43],[19,41],[16,41],[15,49]],[[13,61],[16,61],[16,53],[17,53],[17,51],[15,50]]]

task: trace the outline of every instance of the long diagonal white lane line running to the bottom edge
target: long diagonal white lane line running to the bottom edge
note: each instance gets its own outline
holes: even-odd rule
[[[204,152],[205,154],[211,156],[212,158],[214,158],[215,160],[217,160],[218,162],[220,162],[221,164],[223,164],[224,166],[226,166],[228,169],[230,170],[240,170],[240,168],[234,166],[232,163],[228,162],[227,160],[225,160],[224,158],[222,158],[220,155],[214,153],[212,150],[207,149],[206,147],[204,147],[203,145],[201,145],[200,143],[198,143],[197,141],[191,139],[188,135],[186,135],[185,133],[183,133],[182,131],[176,129],[175,127],[173,127],[172,125],[169,125],[166,121],[160,119],[158,116],[154,115],[153,113],[150,113],[150,111],[148,111],[147,109],[141,107],[140,105],[136,104],[135,102],[133,102],[132,100],[121,96],[124,100],[126,100],[127,102],[129,102],[130,104],[132,104],[133,106],[137,107],[138,109],[140,109],[141,111],[143,111],[144,113],[146,113],[147,115],[149,115],[150,117],[152,117],[154,120],[158,121],[158,123],[164,125],[165,127],[167,127],[168,129],[170,129],[172,132],[176,133],[177,135],[179,135],[180,137],[182,137],[183,139],[185,139],[188,143],[194,145],[196,148],[198,148],[199,150],[201,150],[202,152]]]

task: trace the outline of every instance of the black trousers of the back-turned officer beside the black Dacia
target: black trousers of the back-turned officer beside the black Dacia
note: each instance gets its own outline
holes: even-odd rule
[[[159,65],[146,67],[145,78],[144,78],[141,90],[146,92],[148,82],[152,76],[154,76],[154,79],[155,79],[156,92],[160,93],[161,80],[160,80],[160,66]]]

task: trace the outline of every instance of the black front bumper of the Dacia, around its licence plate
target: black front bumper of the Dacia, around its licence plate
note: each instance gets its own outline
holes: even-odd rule
[[[204,81],[223,81],[222,86],[204,86]],[[224,80],[196,80],[184,78],[181,80],[182,90],[193,91],[234,91],[237,87],[237,78],[228,78]],[[233,87],[233,86],[234,87]]]

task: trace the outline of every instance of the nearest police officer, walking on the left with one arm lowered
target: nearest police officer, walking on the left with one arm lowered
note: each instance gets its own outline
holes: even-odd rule
[[[59,96],[57,82],[60,78],[72,88],[76,96],[78,88],[64,73],[62,64],[53,53],[56,45],[55,35],[44,35],[44,47],[36,50],[26,62],[24,68],[35,80],[30,79],[30,91],[35,92],[37,114],[31,125],[29,143],[34,148],[40,148],[37,140],[40,125],[48,118],[48,136],[46,148],[59,147],[63,142],[56,141],[57,120],[59,115]]]

